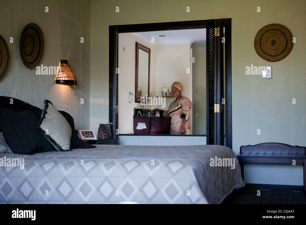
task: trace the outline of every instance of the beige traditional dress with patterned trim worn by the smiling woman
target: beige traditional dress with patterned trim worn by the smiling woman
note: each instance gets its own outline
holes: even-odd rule
[[[179,99],[173,100],[171,102],[168,110],[161,110],[159,112],[161,117],[171,117],[170,134],[181,134],[180,128],[182,126],[183,119],[186,119],[185,132],[187,134],[187,129],[189,128],[189,117],[192,103],[185,97],[181,96]],[[188,132],[190,133],[190,131]]]

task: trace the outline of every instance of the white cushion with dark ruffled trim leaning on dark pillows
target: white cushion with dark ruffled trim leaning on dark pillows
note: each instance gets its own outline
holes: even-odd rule
[[[65,117],[48,100],[39,121],[40,131],[59,152],[70,149],[71,126]]]

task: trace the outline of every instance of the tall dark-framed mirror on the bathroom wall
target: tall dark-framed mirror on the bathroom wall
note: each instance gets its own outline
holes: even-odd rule
[[[136,42],[135,59],[135,102],[141,97],[149,97],[150,93],[150,55],[151,49]]]

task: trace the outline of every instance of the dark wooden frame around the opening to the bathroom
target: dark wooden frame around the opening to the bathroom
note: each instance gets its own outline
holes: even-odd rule
[[[116,119],[116,55],[118,55],[117,36],[116,33],[129,33],[129,32],[144,32],[144,31],[158,31],[158,30],[178,30],[178,29],[195,29],[206,28],[207,20],[197,21],[178,21],[166,23],[150,23],[150,24],[128,24],[128,25],[112,25],[109,26],[109,122],[114,122]],[[221,19],[221,23],[226,27],[226,146],[232,148],[232,72],[231,72],[231,19]],[[223,32],[222,32],[223,33]],[[117,93],[118,96],[118,93]],[[208,107],[208,105],[207,105]],[[115,134],[115,126],[113,126],[113,137]]]

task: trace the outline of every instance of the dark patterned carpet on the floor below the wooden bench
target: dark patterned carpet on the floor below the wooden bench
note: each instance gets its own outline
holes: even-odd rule
[[[234,190],[222,204],[306,204],[303,191],[260,190],[242,188]]]

